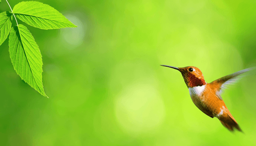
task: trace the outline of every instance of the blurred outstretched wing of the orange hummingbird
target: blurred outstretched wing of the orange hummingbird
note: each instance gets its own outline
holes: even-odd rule
[[[210,84],[214,84],[215,86],[217,86],[216,93],[219,96],[219,98],[222,99],[220,95],[225,89],[227,89],[228,86],[233,85],[236,82],[238,82],[241,78],[243,78],[244,76],[246,76],[248,74],[248,73],[246,73],[247,71],[253,70],[253,69],[255,69],[255,67],[240,70],[238,72],[232,73],[230,75],[227,75],[227,76],[219,78],[215,81],[212,81]]]

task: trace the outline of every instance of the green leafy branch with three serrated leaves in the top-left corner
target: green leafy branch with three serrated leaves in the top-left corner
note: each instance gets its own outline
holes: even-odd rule
[[[8,3],[8,0],[6,2]],[[8,5],[10,7],[9,3]],[[42,54],[32,34],[26,26],[18,25],[17,18],[28,25],[46,30],[68,27],[76,28],[77,26],[50,5],[40,2],[21,2],[16,4],[13,9],[10,7],[10,10],[11,12],[0,13],[0,23],[3,26],[0,29],[0,45],[9,35],[10,59],[14,70],[16,70],[16,73],[22,80],[42,94],[42,96],[47,97],[42,83]],[[42,15],[44,17],[41,17]],[[55,17],[52,17],[52,15]],[[14,26],[12,26],[13,16],[17,23]]]

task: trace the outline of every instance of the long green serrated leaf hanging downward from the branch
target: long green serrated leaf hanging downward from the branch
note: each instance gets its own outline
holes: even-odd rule
[[[42,55],[26,26],[20,24],[11,28],[9,52],[13,67],[21,79],[47,97],[42,83]]]

